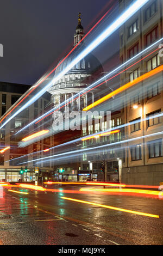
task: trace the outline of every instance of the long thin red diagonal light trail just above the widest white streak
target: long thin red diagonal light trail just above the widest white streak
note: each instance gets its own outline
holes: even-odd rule
[[[7,114],[5,114],[5,116],[4,116],[4,117],[1,119],[1,121],[0,121],[0,124],[2,123],[2,121],[3,121],[18,105],[20,105],[20,103],[21,103],[24,99],[26,99],[26,98],[29,96],[30,93],[33,92],[33,90],[35,90],[43,81],[45,81],[46,78],[48,78],[49,75],[51,75],[51,74],[54,72],[54,70],[57,69],[58,66],[61,65],[62,62],[64,62],[64,60],[76,49],[76,47],[80,44],[80,42],[82,42],[82,41],[86,38],[86,36],[89,35],[90,32],[98,25],[98,23],[101,22],[101,21],[104,19],[104,17],[109,13],[109,11],[111,11],[111,9],[114,7],[114,5],[115,5],[115,4],[113,4],[112,7],[111,7],[108,11],[106,11],[106,13],[101,17],[101,19],[99,19],[99,20],[96,22],[96,24],[89,30],[89,32],[87,32],[87,33],[83,36],[83,38],[78,42],[78,44],[77,44],[76,46],[74,46],[74,47],[72,48],[72,50],[65,56],[65,58],[63,58],[63,59],[61,60],[61,62],[58,63],[58,65],[55,66],[55,68],[54,68],[51,72],[49,72],[48,75],[46,75],[39,83],[37,83],[37,84],[35,85],[35,87],[34,87],[32,90],[30,90],[30,92],[29,92],[27,95],[25,95],[25,96],[23,97],[23,99],[22,99],[20,102],[18,102]]]

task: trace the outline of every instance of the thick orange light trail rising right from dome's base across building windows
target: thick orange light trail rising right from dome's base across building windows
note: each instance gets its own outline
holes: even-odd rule
[[[114,90],[114,92],[111,92],[111,93],[109,93],[108,95],[102,97],[101,99],[99,99],[99,100],[93,102],[93,103],[90,104],[89,106],[83,108],[83,111],[87,111],[87,110],[89,110],[89,109],[91,109],[91,108],[93,108],[93,107],[95,107],[95,106],[101,104],[102,102],[104,102],[104,101],[106,101],[106,100],[109,100],[112,96],[115,96],[115,95],[117,95],[117,94],[123,92],[124,90],[126,90],[126,89],[128,89],[128,88],[134,86],[135,84],[137,84],[137,83],[139,83],[139,82],[142,82],[143,80],[146,80],[147,78],[152,77],[152,76],[158,74],[158,73],[161,72],[162,70],[163,70],[163,65],[158,66],[158,68],[155,68],[155,69],[153,69],[153,70],[147,72],[146,74],[144,74],[144,75],[142,75],[142,76],[140,76],[140,77],[137,77],[137,78],[136,78],[135,80],[133,80],[132,82],[129,82],[129,83],[124,84],[124,86],[122,86],[122,87],[120,87],[120,88]]]

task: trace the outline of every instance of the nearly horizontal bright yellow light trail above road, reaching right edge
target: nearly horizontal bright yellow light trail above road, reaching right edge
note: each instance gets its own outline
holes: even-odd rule
[[[154,194],[159,196],[163,192],[160,191],[151,191],[151,190],[134,190],[129,188],[80,188],[79,191],[97,191],[97,192],[128,192],[128,193],[140,193],[140,194]]]

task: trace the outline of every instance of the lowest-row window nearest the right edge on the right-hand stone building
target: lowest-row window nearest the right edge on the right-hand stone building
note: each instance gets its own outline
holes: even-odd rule
[[[149,158],[162,156],[162,139],[148,142],[148,154]]]

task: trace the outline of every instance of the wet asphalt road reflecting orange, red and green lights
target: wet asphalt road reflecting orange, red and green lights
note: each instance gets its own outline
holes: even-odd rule
[[[49,186],[50,187],[50,186]],[[56,188],[56,187],[55,187]],[[58,187],[57,187],[58,188]],[[162,245],[163,200],[138,196],[0,190],[0,245]],[[159,215],[140,216],[61,197]]]

